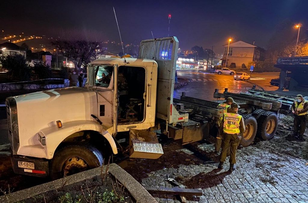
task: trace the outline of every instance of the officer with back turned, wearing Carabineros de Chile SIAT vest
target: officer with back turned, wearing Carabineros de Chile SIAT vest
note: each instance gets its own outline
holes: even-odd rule
[[[224,113],[224,117],[221,121],[221,132],[223,132],[222,136],[222,150],[220,154],[220,162],[218,165],[219,169],[223,168],[224,161],[227,157],[227,150],[230,147],[230,169],[229,171],[234,171],[236,163],[236,150],[237,145],[243,133],[245,131],[244,119],[241,115],[237,113],[239,106],[237,103],[233,102],[231,104],[230,112]]]

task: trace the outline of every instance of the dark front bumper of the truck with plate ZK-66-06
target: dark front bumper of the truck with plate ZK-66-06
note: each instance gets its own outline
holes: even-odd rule
[[[11,161],[14,173],[36,177],[49,176],[49,162],[47,160],[12,155]]]

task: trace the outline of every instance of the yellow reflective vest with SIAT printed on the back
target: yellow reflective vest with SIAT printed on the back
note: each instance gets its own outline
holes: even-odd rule
[[[240,133],[240,121],[242,116],[237,113],[224,113],[224,133]]]

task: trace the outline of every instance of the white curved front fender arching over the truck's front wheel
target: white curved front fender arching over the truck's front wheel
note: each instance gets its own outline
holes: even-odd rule
[[[93,121],[71,121],[62,123],[62,125],[63,126],[61,128],[58,128],[56,125],[53,125],[51,127],[42,129],[39,132],[41,136],[45,137],[46,140],[45,146],[32,145],[32,146],[20,147],[18,150],[18,154],[52,159],[55,150],[65,138],[69,137],[73,133],[83,130],[93,130],[100,133],[109,142],[112,152],[114,154],[118,153],[113,137],[111,136],[110,133],[107,132],[106,129],[104,129],[102,125],[99,125],[99,123]],[[37,143],[38,134],[36,134],[36,136],[34,136],[33,139],[36,140]]]

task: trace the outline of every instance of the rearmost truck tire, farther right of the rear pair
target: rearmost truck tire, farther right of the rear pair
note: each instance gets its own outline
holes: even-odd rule
[[[263,140],[269,140],[274,137],[278,125],[278,117],[274,112],[264,111],[257,119],[257,135]]]

